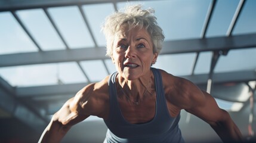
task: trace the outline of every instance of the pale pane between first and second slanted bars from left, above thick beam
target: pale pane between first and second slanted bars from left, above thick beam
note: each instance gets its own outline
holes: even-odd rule
[[[43,51],[64,49],[57,33],[42,9],[20,10],[17,15]]]

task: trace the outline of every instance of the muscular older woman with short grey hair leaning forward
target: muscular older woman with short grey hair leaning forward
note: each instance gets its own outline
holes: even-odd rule
[[[117,72],[68,100],[39,142],[60,142],[72,125],[91,115],[107,125],[104,142],[184,142],[178,127],[182,109],[209,123],[223,141],[242,141],[238,127],[211,95],[189,80],[151,67],[164,41],[153,14],[133,5],[106,18],[106,55]]]

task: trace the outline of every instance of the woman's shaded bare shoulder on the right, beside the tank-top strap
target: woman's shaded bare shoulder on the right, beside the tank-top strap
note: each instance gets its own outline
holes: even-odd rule
[[[205,100],[205,94],[190,80],[174,76],[164,70],[162,74],[166,100],[179,107],[186,109],[194,104],[201,104]]]

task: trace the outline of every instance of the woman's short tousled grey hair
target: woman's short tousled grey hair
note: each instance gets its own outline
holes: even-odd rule
[[[137,26],[141,29],[145,28],[152,38],[153,53],[160,53],[165,36],[154,14],[155,10],[152,8],[143,10],[142,5],[127,5],[124,12],[117,11],[106,17],[101,27],[107,41],[106,56],[112,57],[115,35],[121,30],[123,24],[128,24],[129,29]]]

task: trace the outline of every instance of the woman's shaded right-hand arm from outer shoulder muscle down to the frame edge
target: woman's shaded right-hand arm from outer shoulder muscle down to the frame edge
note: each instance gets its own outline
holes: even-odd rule
[[[193,84],[190,85],[191,89],[190,107],[186,111],[209,123],[223,142],[242,142],[242,133],[229,113],[219,108],[214,98],[207,92],[199,90]]]

